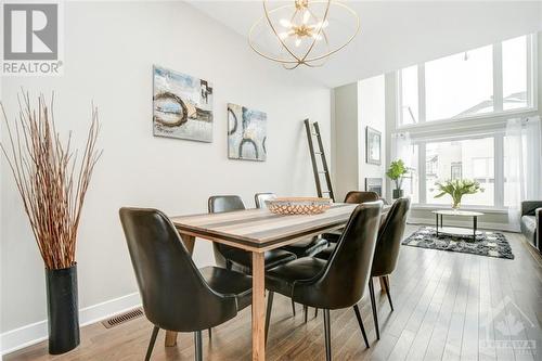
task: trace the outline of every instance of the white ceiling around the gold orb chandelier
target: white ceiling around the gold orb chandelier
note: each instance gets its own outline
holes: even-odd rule
[[[190,3],[245,39],[251,24],[262,14],[261,1]],[[498,40],[542,30],[542,1],[347,3],[357,11],[361,20],[361,33],[358,37],[346,49],[333,55],[323,67],[284,72],[302,72],[328,87],[337,87]],[[268,62],[264,59],[261,61]]]

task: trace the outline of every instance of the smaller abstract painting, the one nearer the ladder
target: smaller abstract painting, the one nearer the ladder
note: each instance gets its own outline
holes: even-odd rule
[[[230,159],[266,160],[267,118],[263,112],[228,104],[228,157]]]

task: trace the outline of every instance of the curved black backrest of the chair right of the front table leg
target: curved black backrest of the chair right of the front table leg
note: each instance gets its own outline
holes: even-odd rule
[[[323,272],[295,284],[299,302],[339,309],[361,299],[370,278],[380,212],[382,202],[363,203],[353,210]]]

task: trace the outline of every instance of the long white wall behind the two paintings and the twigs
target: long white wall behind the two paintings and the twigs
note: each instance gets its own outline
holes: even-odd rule
[[[76,141],[85,137],[91,100],[100,107],[104,154],[87,196],[77,252],[83,322],[137,301],[136,295],[99,305],[137,292],[119,207],[182,215],[206,211],[210,194],[240,194],[251,207],[255,192],[315,193],[302,119],[320,123],[328,146],[330,90],[258,57],[246,38],[183,2],[68,2],[64,47],[64,76],[5,78],[1,91],[13,118],[20,87],[33,95],[54,90],[57,127],[74,130]],[[212,82],[211,144],[152,136],[153,64]],[[227,158],[228,102],[268,113],[267,162]],[[5,163],[1,171],[5,351],[44,336],[47,328],[43,265]],[[194,257],[199,266],[212,263],[210,244],[196,242]]]

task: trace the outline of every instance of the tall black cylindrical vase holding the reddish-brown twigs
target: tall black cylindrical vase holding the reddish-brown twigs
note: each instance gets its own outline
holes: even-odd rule
[[[49,353],[60,354],[79,345],[77,265],[46,270]]]

